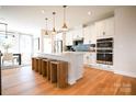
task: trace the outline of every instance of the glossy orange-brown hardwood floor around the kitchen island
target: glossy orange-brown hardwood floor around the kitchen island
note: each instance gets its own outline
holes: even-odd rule
[[[83,78],[65,89],[56,88],[31,67],[2,70],[3,95],[114,95],[136,94],[136,78],[84,68]]]

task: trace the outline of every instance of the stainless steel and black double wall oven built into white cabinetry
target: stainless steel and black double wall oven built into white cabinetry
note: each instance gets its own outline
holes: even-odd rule
[[[113,65],[113,37],[97,39],[97,63]]]

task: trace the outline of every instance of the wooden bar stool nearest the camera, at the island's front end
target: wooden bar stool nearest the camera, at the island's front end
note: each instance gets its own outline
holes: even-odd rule
[[[50,61],[50,82],[57,82],[58,88],[66,88],[68,86],[67,61]]]

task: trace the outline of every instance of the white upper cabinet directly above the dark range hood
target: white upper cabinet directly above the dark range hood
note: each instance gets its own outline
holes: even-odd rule
[[[82,26],[75,27],[72,32],[73,32],[73,35],[72,35],[73,39],[80,39],[83,37]]]

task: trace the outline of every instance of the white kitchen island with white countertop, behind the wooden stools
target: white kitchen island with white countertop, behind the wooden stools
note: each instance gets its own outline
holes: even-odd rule
[[[73,84],[83,77],[83,54],[61,53],[61,54],[38,54],[38,57],[63,60],[68,63],[68,83]]]

